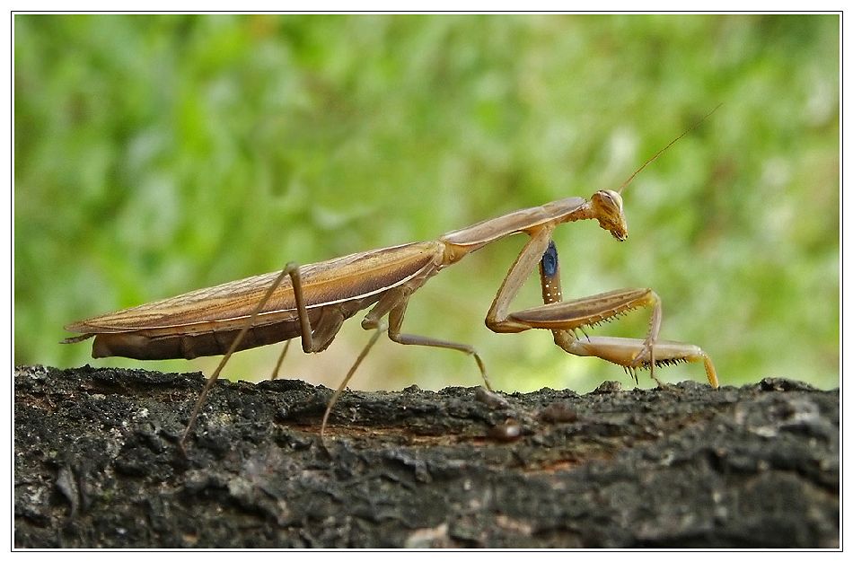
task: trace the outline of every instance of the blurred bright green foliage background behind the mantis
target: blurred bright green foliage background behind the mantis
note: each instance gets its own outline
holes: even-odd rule
[[[555,233],[567,298],[649,286],[661,336],[724,384],[839,384],[836,15],[16,15],[16,364],[92,360],[81,320],[200,287],[434,239],[557,198],[616,189],[628,241]],[[479,349],[494,386],[631,386],[549,332],[483,319],[522,248],[470,255],[416,293],[405,331]],[[513,309],[535,305],[535,275]],[[370,334],[291,348],[282,376],[334,387]],[[647,312],[595,329],[642,338]],[[225,373],[262,380],[279,347]],[[700,364],[660,372],[704,381]],[[651,386],[641,374],[643,386]],[[353,389],[472,386],[468,356],[382,338]]]

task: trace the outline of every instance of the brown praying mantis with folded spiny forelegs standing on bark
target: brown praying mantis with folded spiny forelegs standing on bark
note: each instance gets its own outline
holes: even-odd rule
[[[319,353],[330,346],[344,321],[370,308],[361,325],[363,329],[374,330],[374,334],[332,395],[322,418],[322,437],[335,402],[383,331],[400,344],[444,347],[473,356],[483,382],[491,390],[486,368],[473,347],[405,334],[400,330],[409,297],[430,277],[472,251],[506,236],[524,233],[530,240],[509,268],[488,309],[486,325],[489,329],[497,333],[550,329],[558,347],[575,356],[594,356],[618,364],[635,382],[638,368],[648,368],[657,381],[655,366],[701,361],[708,382],[717,388],[714,364],[701,348],[658,339],[661,301],[652,289],[617,289],[563,301],[557,249],[551,241],[551,233],[559,224],[586,219],[597,220],[602,229],[618,241],[628,238],[622,190],[649,163],[716,110],[649,158],[615,191],[602,189],[589,200],[563,198],[517,210],[446,233],[435,241],[367,250],[306,266],[288,263],[281,271],[77,321],[66,329],[82,335],[67,338],[63,343],[94,337],[92,357],[191,359],[224,355],[196,401],[181,439],[183,443],[198,417],[207,392],[235,351],[285,340],[289,345],[293,338],[300,338],[303,352]],[[544,304],[510,312],[510,304],[537,264]],[[644,339],[590,337],[584,331],[643,307],[652,309]],[[577,330],[583,336],[579,337]],[[278,365],[286,349],[287,346],[279,357]],[[277,370],[278,366],[276,373]]]

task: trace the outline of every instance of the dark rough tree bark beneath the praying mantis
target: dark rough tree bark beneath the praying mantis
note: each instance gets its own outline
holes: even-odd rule
[[[203,383],[18,368],[15,546],[839,546],[838,391]]]

